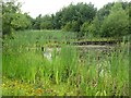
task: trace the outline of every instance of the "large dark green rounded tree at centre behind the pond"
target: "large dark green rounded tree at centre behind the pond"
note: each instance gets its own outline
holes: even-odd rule
[[[92,21],[95,14],[96,9],[92,3],[78,3],[76,5],[71,3],[56,13],[55,28],[63,27],[67,30],[80,32],[80,26],[85,21]]]

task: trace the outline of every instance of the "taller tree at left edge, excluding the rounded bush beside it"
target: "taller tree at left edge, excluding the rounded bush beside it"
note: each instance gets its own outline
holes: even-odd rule
[[[15,16],[15,13],[20,11],[20,4],[15,5],[14,1],[12,2],[2,2],[2,30],[4,34],[12,33],[12,21]]]

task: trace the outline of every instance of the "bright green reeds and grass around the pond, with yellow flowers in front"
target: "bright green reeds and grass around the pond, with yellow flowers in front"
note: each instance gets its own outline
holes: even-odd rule
[[[57,33],[56,37],[66,37]],[[82,53],[62,44],[60,51],[53,47],[49,61],[40,50],[49,36],[46,32],[26,32],[4,40],[3,96],[129,96],[129,46]]]

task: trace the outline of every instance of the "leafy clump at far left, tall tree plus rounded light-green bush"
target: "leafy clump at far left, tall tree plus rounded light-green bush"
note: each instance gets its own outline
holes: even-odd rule
[[[2,30],[3,35],[12,34],[13,30],[25,29],[31,25],[25,14],[21,13],[21,3],[15,0],[2,2]]]

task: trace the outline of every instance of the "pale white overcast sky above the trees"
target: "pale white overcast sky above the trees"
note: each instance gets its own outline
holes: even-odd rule
[[[92,2],[97,9],[102,8],[108,2],[118,0],[19,0],[23,3],[22,11],[28,12],[32,17],[36,17],[39,14],[52,14],[59,11],[61,8],[69,5],[71,2],[76,4],[78,2]]]

